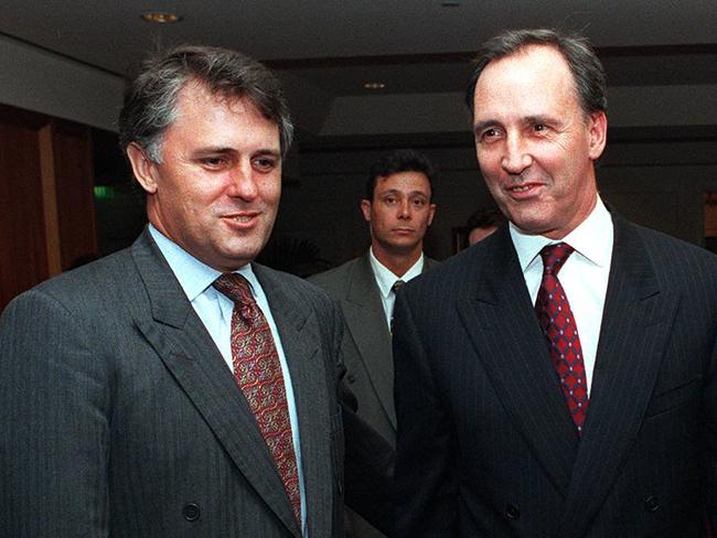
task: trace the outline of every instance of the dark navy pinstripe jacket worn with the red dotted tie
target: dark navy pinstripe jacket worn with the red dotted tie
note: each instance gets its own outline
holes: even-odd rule
[[[397,536],[688,538],[717,514],[717,257],[613,215],[578,441],[506,227],[396,306]]]

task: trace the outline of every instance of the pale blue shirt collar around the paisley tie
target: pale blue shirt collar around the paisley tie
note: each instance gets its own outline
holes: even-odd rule
[[[162,235],[162,233],[151,224],[149,225],[149,233],[162,252],[162,256],[167,259],[170,269],[172,269],[172,272],[176,277],[176,280],[179,280],[179,283],[190,302],[204,293],[217,277],[222,275],[216,269],[213,269],[206,263],[197,260],[182,247]],[[247,263],[234,272],[240,273],[249,281],[252,284],[252,291],[256,295],[256,290],[260,289],[260,286],[252,270],[252,263]]]

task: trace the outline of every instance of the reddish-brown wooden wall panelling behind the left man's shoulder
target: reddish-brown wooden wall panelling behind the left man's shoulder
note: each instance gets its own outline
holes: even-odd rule
[[[0,105],[0,310],[96,251],[89,129]]]

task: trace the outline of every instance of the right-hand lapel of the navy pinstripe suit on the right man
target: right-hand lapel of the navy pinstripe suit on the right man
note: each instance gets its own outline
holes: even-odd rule
[[[590,407],[561,527],[575,537],[587,532],[638,435],[677,309],[677,300],[660,289],[636,228],[613,220]]]

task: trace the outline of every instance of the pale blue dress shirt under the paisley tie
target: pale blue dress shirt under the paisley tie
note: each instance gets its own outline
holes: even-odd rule
[[[216,347],[220,349],[227,367],[229,370],[234,372],[234,363],[232,361],[232,313],[234,312],[234,302],[224,293],[216,291],[212,286],[222,273],[205,263],[202,263],[179,245],[164,237],[151,224],[149,225],[149,232],[160,251],[167,259],[167,262],[176,277],[176,280],[179,280],[179,283],[182,287],[182,290],[184,290],[186,298],[190,300],[192,308],[200,316],[200,320],[202,320],[202,323],[212,336]],[[274,336],[274,343],[277,348],[277,354],[279,355],[279,362],[281,363],[281,374],[283,375],[287,405],[289,407],[289,420],[291,422],[291,433],[293,438],[293,452],[296,453],[299,474],[299,489],[301,493],[301,526],[303,529],[303,536],[308,537],[307,498],[303,485],[303,472],[301,470],[299,417],[297,415],[293,388],[291,386],[291,374],[289,372],[287,358],[283,354],[283,347],[281,347],[279,331],[277,330],[276,322],[271,315],[269,302],[261,289],[261,284],[252,270],[252,265],[247,263],[234,272],[242,275],[249,281],[249,284],[252,286],[252,294],[256,299],[256,302],[259,309],[261,309],[261,312],[269,324],[269,329],[271,330],[271,336]]]

